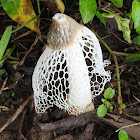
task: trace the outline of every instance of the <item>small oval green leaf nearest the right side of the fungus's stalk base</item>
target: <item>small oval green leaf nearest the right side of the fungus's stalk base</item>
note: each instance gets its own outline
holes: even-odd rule
[[[104,104],[100,105],[97,109],[98,117],[104,117],[107,113],[107,108]]]

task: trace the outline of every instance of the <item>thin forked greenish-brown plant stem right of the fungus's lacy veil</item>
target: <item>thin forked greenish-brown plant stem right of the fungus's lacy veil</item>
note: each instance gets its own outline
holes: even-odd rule
[[[104,42],[104,40],[93,29],[91,29],[91,30],[95,33],[95,35],[98,37],[98,39],[103,43],[103,45],[107,48],[107,50],[113,56],[113,59],[114,59],[114,62],[115,62],[115,66],[116,66],[116,75],[117,75],[117,84],[118,84],[118,104],[119,104],[118,111],[119,111],[119,114],[122,114],[122,108],[121,108],[121,104],[122,104],[121,83],[120,83],[119,66],[118,66],[118,61],[117,61],[116,55],[127,56],[129,54],[112,51],[109,48],[109,46]]]

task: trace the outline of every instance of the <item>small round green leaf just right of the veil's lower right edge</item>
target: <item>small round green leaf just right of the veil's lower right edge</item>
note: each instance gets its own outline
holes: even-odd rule
[[[104,92],[104,98],[105,99],[111,99],[111,98],[114,97],[114,95],[115,95],[115,90],[110,88],[110,87],[107,88]]]

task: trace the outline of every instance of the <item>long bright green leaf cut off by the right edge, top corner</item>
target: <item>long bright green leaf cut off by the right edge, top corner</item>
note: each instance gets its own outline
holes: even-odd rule
[[[134,22],[134,28],[136,29],[140,25],[140,2],[134,0],[132,3],[132,19]]]

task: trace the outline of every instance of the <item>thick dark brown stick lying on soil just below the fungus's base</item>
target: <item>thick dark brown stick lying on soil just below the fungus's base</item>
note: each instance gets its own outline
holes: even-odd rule
[[[53,123],[38,123],[38,125],[44,132],[63,133],[64,131],[74,129],[76,127],[85,126],[94,119],[94,116],[96,116],[95,113],[96,112],[88,112],[81,114],[78,117],[73,116]]]

